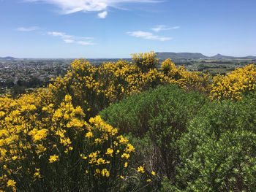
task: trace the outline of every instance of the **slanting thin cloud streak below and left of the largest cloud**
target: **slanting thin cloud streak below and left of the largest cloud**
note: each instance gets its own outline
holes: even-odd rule
[[[63,39],[65,43],[75,43],[79,45],[94,45],[94,42],[92,42],[92,40],[94,39],[93,37],[78,37],[74,35],[67,35],[63,32],[58,31],[51,31],[47,34],[53,37],[60,37],[61,39]]]

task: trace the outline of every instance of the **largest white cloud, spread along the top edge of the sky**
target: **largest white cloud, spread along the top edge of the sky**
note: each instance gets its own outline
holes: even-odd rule
[[[162,0],[23,0],[27,2],[44,2],[56,5],[64,14],[73,12],[100,12],[99,18],[105,18],[108,7],[118,8],[121,4],[129,3],[157,3]]]

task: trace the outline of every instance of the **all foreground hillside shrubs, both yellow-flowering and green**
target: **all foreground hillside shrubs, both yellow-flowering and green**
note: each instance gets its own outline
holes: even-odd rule
[[[255,191],[256,69],[72,62],[0,98],[0,191]]]

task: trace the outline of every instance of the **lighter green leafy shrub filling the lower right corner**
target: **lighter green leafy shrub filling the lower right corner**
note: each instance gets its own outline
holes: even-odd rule
[[[255,127],[255,95],[204,107],[178,141],[182,166],[176,187],[180,191],[255,191]]]

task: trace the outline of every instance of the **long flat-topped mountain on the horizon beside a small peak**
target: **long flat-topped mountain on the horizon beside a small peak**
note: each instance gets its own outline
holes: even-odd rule
[[[202,53],[173,53],[173,52],[159,52],[157,53],[157,58],[167,59],[167,58],[207,58],[206,55]]]

